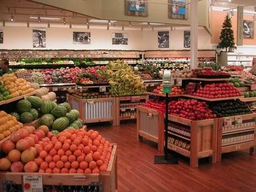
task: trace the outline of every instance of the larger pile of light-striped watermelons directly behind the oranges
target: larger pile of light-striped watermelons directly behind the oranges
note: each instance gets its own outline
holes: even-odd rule
[[[42,117],[40,125],[46,125],[52,130],[54,135],[57,135],[64,129],[80,129],[83,127],[83,120],[79,119],[80,113],[76,109],[71,109],[68,103],[52,105],[52,102],[43,102],[40,106]]]

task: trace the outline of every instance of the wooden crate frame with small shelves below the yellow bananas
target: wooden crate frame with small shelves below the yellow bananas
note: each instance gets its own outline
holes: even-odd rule
[[[148,95],[137,95],[137,96],[127,96],[127,97],[117,97],[116,98],[116,117],[117,117],[117,123],[116,125],[120,125],[121,120],[127,120],[127,119],[137,119],[137,115],[127,115],[127,116],[121,116],[120,111],[122,110],[120,108],[120,103],[122,101],[127,101],[129,103],[138,103],[138,102],[147,102],[148,101]],[[128,109],[128,108],[127,108]],[[130,109],[137,109],[137,107],[132,107]]]

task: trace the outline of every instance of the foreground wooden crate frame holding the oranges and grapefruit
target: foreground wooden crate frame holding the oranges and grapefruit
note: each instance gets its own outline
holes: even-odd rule
[[[23,175],[42,175],[43,185],[89,185],[90,183],[102,183],[103,191],[117,191],[117,145],[113,144],[111,158],[107,171],[93,174],[71,174],[71,173],[0,173],[0,191],[3,191],[3,181],[11,181],[22,184]]]

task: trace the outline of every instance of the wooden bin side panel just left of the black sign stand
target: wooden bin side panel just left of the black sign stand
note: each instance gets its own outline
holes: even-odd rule
[[[164,115],[157,110],[148,109],[142,106],[137,107],[137,137],[158,143],[158,151],[163,153],[164,139]]]

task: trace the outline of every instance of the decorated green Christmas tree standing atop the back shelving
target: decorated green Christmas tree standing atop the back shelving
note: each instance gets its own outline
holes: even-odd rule
[[[228,48],[237,48],[235,47],[234,31],[232,29],[231,19],[228,17],[228,15],[225,16],[219,39],[221,42],[219,43],[218,48],[226,49],[226,52],[228,51]]]

